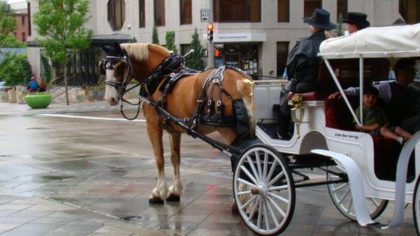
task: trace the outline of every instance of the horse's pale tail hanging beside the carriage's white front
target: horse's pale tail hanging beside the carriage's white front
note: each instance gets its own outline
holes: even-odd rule
[[[248,112],[249,132],[251,135],[253,135],[255,131],[255,112],[252,99],[253,83],[254,82],[251,78],[244,78],[237,81],[237,90],[241,95],[242,101],[244,101],[244,105],[246,107],[246,111]]]

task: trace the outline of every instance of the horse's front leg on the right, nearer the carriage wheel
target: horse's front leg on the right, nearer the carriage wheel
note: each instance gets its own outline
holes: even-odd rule
[[[181,166],[181,133],[172,132],[169,134],[169,141],[171,143],[171,162],[172,167],[174,167],[174,183],[169,187],[169,197],[167,197],[167,201],[179,202],[179,197],[183,191],[181,174],[179,172],[179,167]]]

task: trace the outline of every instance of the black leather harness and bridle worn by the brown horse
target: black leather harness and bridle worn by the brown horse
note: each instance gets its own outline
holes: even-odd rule
[[[134,118],[127,118],[128,120],[134,120],[139,116],[139,107],[141,101],[144,101],[148,104],[151,104],[155,106],[155,109],[158,111],[162,119],[165,121],[165,123],[168,123],[169,120],[174,121],[175,123],[181,125],[182,127],[185,127],[188,130],[188,133],[192,135],[193,137],[196,135],[195,132],[191,132],[192,130],[197,130],[197,124],[201,123],[203,125],[216,125],[216,126],[235,126],[238,125],[237,121],[237,114],[233,115],[225,115],[223,112],[223,102],[222,102],[222,95],[226,95],[229,97],[229,99],[232,101],[232,105],[234,107],[234,111],[241,111],[241,117],[242,118],[242,126],[246,123],[246,126],[248,125],[247,120],[248,116],[246,113],[246,109],[244,108],[244,104],[241,99],[235,99],[232,97],[232,95],[229,94],[228,91],[226,91],[223,88],[223,81],[224,76],[223,72],[225,69],[235,69],[236,71],[241,72],[239,69],[235,67],[228,67],[223,66],[216,69],[214,72],[210,74],[209,77],[207,77],[206,81],[204,82],[202,86],[202,90],[200,91],[200,95],[197,97],[197,106],[195,109],[195,112],[193,113],[193,116],[190,118],[176,118],[169,114],[165,110],[165,99],[167,95],[172,91],[176,83],[181,80],[184,76],[190,76],[200,73],[201,71],[189,69],[185,67],[185,62],[183,60],[183,57],[180,57],[178,55],[169,55],[165,60],[162,61],[156,67],[151,74],[149,74],[146,79],[144,79],[143,82],[134,85],[130,89],[126,89],[127,87],[127,80],[128,76],[132,76],[134,78],[134,72],[132,69],[132,62],[130,60],[130,57],[127,55],[125,50],[123,50],[123,57],[106,57],[104,60],[106,64],[106,69],[113,69],[116,62],[119,60],[123,60],[123,62],[127,65],[128,71],[124,76],[123,81],[109,81],[106,80],[106,85],[111,85],[116,88],[118,92],[118,98],[121,99],[122,103],[120,105],[120,112],[123,114],[125,118],[124,112],[123,112],[123,102],[127,102],[129,104],[132,104],[131,102],[128,102],[124,99],[125,92],[128,92],[137,86],[141,86],[140,92],[139,92],[139,102],[136,104],[132,104],[135,106],[138,106],[137,114]],[[163,82],[162,82],[163,81]],[[158,101],[154,101],[152,95],[156,90],[160,90],[162,92],[162,95],[158,99]],[[207,95],[207,91],[210,89],[209,95]],[[214,92],[218,92],[216,96],[214,96]],[[217,97],[217,101],[214,100],[214,97]],[[207,105],[207,112],[204,112],[204,106]],[[236,113],[237,113],[236,112]],[[246,113],[246,116],[244,116],[243,113]],[[188,125],[189,124],[189,125]],[[244,129],[241,129],[244,130]],[[239,131],[239,129],[238,129]]]

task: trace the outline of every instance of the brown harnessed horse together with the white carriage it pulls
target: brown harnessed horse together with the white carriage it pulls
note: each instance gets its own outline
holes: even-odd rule
[[[319,81],[338,89],[342,99],[329,99],[329,93],[320,91],[290,95],[294,129],[289,140],[275,134],[275,109],[282,89],[279,81],[252,81],[233,67],[188,69],[183,57],[151,44],[122,44],[104,50],[109,55],[104,66],[110,104],[125,101],[123,95],[132,78],[141,86],[158,167],[158,184],[150,202],[179,201],[183,190],[181,132],[186,132],[231,157],[237,209],[244,223],[260,235],[276,235],[286,229],[295,208],[296,188],[321,184],[328,186],[337,209],[360,225],[397,227],[404,217],[404,204],[412,203],[420,235],[420,164],[415,157],[420,151],[420,133],[400,146],[353,129],[353,118],[362,124],[354,112],[362,96],[344,93],[348,86],[360,85],[363,91],[366,83],[387,78],[390,60],[419,59],[420,24],[371,27],[324,41]],[[163,171],[164,129],[170,134],[174,166],[169,188]],[[214,131],[228,144],[205,135]],[[302,169],[320,169],[325,180],[311,181]],[[390,200],[395,201],[392,221],[375,223],[372,219]]]

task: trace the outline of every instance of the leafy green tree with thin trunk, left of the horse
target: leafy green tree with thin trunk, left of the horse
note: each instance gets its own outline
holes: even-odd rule
[[[39,0],[38,11],[33,18],[38,34],[43,36],[42,39],[36,39],[36,43],[43,46],[45,55],[64,71],[67,104],[69,96],[65,65],[78,50],[89,48],[93,32],[84,27],[89,20],[88,10],[89,0]],[[56,71],[53,75],[56,76]]]

